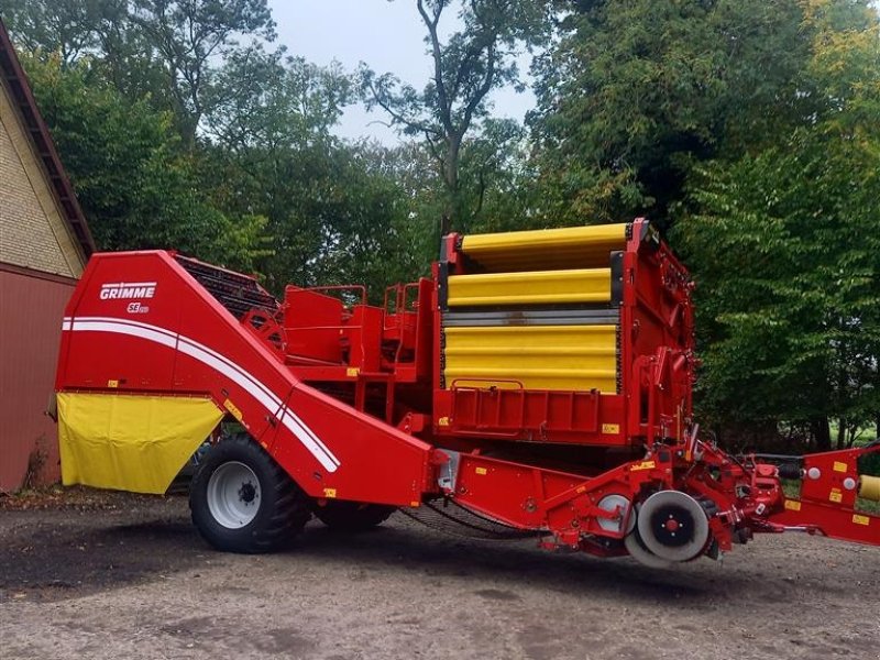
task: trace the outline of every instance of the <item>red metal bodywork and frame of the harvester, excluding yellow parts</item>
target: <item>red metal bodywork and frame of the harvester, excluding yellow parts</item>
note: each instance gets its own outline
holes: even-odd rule
[[[363,287],[288,286],[278,302],[252,277],[173,252],[96,254],[66,310],[56,388],[210,397],[316,502],[448,498],[546,547],[650,561],[635,520],[663,492],[688,499],[664,501],[661,536],[693,522],[676,513],[690,501],[705,513],[696,556],[785,529],[880,543],[880,517],[856,509],[875,483],[858,459],[880,447],[779,465],[698,438],[692,283],[646,221],[610,255],[616,393],[444,383],[447,280],[476,268],[446,237],[430,279],[374,307]]]

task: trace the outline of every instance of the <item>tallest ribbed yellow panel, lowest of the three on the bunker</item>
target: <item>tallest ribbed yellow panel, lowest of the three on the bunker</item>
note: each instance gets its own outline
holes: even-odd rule
[[[617,392],[615,326],[447,328],[447,387]],[[510,383],[515,381],[516,383]]]

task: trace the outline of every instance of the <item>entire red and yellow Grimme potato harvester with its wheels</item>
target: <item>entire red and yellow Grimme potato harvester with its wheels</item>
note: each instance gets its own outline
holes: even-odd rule
[[[64,482],[163,493],[196,452],[193,519],[243,552],[311,515],[363,529],[431,507],[649,565],[755,532],[880,544],[856,508],[880,501],[857,468],[880,447],[732,455],[700,436],[691,290],[645,220],[451,234],[382,307],[358,286],[278,301],[174,252],[97,254],[64,318]]]

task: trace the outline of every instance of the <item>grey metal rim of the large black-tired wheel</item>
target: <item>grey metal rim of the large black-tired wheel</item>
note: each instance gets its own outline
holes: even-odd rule
[[[228,529],[241,529],[256,518],[261,499],[260,480],[239,461],[223,463],[208,480],[208,510]]]

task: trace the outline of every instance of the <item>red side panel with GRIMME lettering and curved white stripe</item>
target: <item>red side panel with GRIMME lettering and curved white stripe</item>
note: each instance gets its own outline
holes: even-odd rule
[[[166,252],[91,258],[56,387],[207,393],[315,497],[409,505],[433,487],[428,444],[300,383]]]

